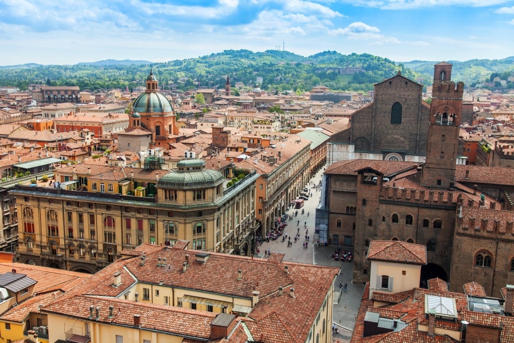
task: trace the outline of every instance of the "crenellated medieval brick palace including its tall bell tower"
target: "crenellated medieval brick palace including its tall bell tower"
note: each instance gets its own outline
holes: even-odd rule
[[[425,245],[428,263],[421,285],[439,277],[455,292],[476,281],[490,296],[500,297],[500,287],[514,282],[514,170],[456,165],[464,84],[450,78],[451,64],[435,65],[430,115],[419,126],[426,125],[426,140],[415,141],[426,147],[425,163],[357,159],[325,172],[318,212],[328,213],[328,242],[353,247],[354,282],[370,281],[366,255],[374,240]],[[395,104],[401,101],[391,99],[390,118],[368,126],[395,121]]]

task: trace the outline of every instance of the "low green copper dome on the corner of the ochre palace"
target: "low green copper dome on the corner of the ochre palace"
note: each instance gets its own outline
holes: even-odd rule
[[[222,173],[205,169],[205,161],[201,159],[183,159],[177,163],[177,169],[162,176],[156,187],[172,189],[215,187],[225,179]]]

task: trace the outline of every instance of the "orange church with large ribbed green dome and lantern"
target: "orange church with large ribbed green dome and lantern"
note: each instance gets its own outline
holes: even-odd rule
[[[152,132],[150,148],[166,147],[169,135],[178,134],[175,111],[170,101],[159,93],[159,82],[150,70],[146,78],[146,90],[132,106],[131,114],[139,113],[140,125]]]

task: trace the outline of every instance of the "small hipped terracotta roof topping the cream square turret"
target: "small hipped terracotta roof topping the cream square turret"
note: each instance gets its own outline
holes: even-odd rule
[[[427,247],[401,241],[372,241],[368,259],[410,264],[427,264]]]

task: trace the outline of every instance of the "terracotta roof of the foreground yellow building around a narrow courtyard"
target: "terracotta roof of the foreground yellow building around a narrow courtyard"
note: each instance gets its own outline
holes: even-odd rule
[[[87,318],[89,306],[93,305],[105,309],[99,321],[132,326],[133,314],[141,314],[144,328],[166,328],[170,332],[180,331],[182,334],[188,333],[188,330],[196,330],[193,337],[208,337],[210,320],[204,318],[202,312],[136,303],[115,297],[136,282],[162,282],[163,285],[249,300],[255,290],[260,292],[259,302],[254,305],[248,317],[242,318],[253,337],[264,335],[267,343],[304,342],[339,273],[339,268],[334,267],[283,263],[283,254],[277,252],[273,252],[269,259],[209,252],[206,262],[197,262],[195,255],[206,252],[184,250],[186,243],[179,241],[171,248],[143,244],[137,248],[146,251],[143,265],[140,257],[117,260],[58,301],[47,305],[44,311]],[[166,266],[157,266],[158,258],[166,258]],[[182,264],[186,259],[189,265],[186,272],[183,272]],[[287,272],[285,265],[288,266]],[[241,280],[238,280],[238,270],[241,270]],[[112,277],[117,272],[120,272],[121,284],[115,287],[112,285]],[[213,275],[220,277],[213,278]],[[283,287],[282,295],[279,295],[279,287]],[[294,288],[294,296],[291,296],[291,288]],[[108,305],[115,306],[115,313],[121,311],[121,315],[107,318]],[[199,322],[203,323],[201,328],[197,327]]]

